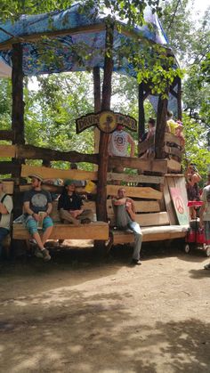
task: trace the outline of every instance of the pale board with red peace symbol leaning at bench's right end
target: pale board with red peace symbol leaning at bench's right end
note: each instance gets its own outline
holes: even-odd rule
[[[174,203],[175,213],[180,225],[189,224],[189,212],[182,199],[182,190],[180,188],[169,188],[171,198]]]

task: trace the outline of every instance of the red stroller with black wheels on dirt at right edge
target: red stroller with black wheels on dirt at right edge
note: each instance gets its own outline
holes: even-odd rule
[[[202,201],[188,202],[188,207],[198,208],[202,205]],[[185,253],[189,254],[190,250],[193,248],[203,250],[206,253],[206,256],[210,256],[210,247],[206,245],[204,230],[199,228],[198,217],[196,217],[196,220],[190,222],[190,229],[185,238]]]

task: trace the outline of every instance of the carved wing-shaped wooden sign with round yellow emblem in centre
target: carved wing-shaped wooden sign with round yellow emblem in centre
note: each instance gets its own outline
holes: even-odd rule
[[[91,126],[97,126],[105,134],[111,134],[116,130],[117,125],[125,126],[133,132],[137,131],[136,119],[112,110],[87,114],[76,120],[77,134]]]

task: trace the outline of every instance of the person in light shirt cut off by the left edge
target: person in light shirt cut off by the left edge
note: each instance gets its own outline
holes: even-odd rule
[[[3,240],[10,231],[12,208],[12,198],[4,193],[4,184],[0,180],[0,258],[2,255]]]

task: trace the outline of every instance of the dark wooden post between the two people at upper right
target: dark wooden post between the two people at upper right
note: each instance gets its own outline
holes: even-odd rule
[[[157,128],[156,128],[156,139],[155,139],[155,149],[156,158],[165,158],[164,154],[164,139],[166,132],[166,118],[167,118],[167,99],[163,99],[159,96],[158,99],[158,114],[157,114]]]

